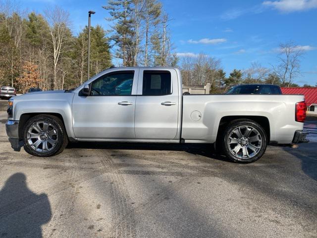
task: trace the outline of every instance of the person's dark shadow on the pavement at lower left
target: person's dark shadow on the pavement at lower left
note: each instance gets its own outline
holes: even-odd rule
[[[27,187],[26,176],[10,176],[0,190],[0,237],[42,238],[41,225],[51,220],[47,194],[36,194]]]

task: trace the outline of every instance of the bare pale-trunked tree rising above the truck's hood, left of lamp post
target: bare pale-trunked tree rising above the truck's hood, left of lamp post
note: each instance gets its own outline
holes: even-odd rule
[[[45,15],[50,26],[50,43],[53,49],[53,82],[52,89],[57,88],[57,65],[63,53],[66,33],[69,29],[69,13],[59,7],[46,9]]]

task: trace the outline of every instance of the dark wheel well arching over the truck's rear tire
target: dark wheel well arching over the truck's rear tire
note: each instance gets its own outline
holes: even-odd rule
[[[220,119],[217,138],[220,135],[221,131],[224,130],[226,125],[235,119],[249,119],[259,123],[263,128],[267,136],[267,143],[270,141],[270,128],[269,128],[269,121],[266,117],[262,116],[227,116]]]

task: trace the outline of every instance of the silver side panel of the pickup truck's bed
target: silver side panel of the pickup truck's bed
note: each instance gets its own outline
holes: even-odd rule
[[[184,95],[181,137],[188,143],[214,143],[219,123],[234,117],[262,117],[270,127],[271,142],[292,142],[295,130],[304,123],[295,121],[295,104],[303,95]]]

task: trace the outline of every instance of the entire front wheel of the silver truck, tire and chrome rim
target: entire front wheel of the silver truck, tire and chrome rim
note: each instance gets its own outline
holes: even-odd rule
[[[68,143],[63,122],[52,115],[37,115],[26,122],[23,130],[24,150],[34,156],[57,155]]]

